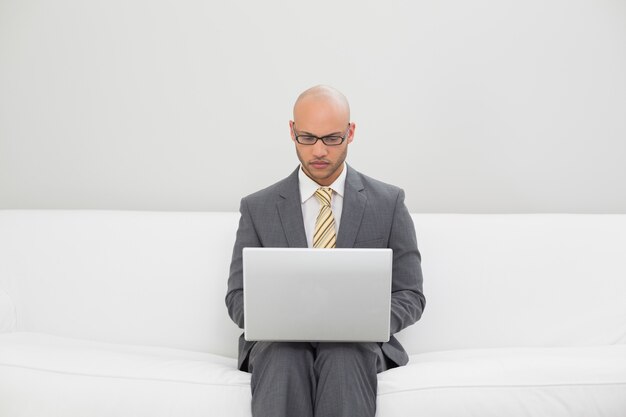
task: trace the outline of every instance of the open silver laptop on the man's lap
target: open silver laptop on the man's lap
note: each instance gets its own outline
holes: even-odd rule
[[[244,248],[246,340],[386,342],[391,249]]]

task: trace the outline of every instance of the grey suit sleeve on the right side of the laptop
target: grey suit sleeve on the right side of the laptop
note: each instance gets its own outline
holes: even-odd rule
[[[422,316],[426,299],[422,289],[421,255],[417,249],[413,219],[400,190],[389,236],[393,249],[391,283],[391,334],[415,323]]]

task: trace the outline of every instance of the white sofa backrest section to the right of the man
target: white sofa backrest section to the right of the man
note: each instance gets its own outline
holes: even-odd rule
[[[426,308],[399,334],[410,354],[626,344],[626,215],[413,220]]]

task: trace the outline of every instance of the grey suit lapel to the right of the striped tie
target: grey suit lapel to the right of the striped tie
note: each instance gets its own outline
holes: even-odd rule
[[[356,240],[367,197],[358,173],[346,165],[346,187],[343,196],[343,209],[339,234],[337,235],[338,248],[352,248]]]

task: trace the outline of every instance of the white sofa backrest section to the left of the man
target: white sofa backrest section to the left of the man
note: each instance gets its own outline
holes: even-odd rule
[[[236,357],[224,297],[238,219],[0,210],[0,287],[19,331]]]

